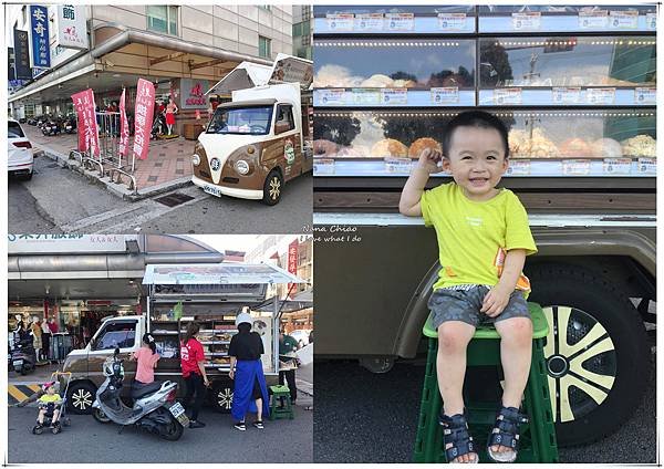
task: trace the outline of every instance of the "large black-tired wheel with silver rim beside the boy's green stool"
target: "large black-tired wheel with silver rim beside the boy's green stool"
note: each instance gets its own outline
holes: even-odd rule
[[[633,415],[649,382],[641,316],[623,292],[587,269],[539,264],[526,273],[529,301],[541,304],[550,322],[544,356],[558,445],[601,439]]]

